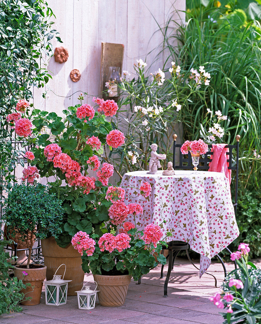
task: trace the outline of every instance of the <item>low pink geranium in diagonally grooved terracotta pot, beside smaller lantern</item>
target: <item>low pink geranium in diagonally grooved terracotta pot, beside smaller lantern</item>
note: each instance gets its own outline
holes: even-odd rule
[[[136,224],[126,222],[128,215],[133,214],[135,219],[143,209],[136,203],[126,205],[124,194],[121,187],[108,188],[106,198],[112,201],[112,205],[109,208],[110,221],[102,228],[103,235],[89,236],[79,231],[72,238],[72,245],[82,255],[84,272],[91,271],[98,284],[102,306],[123,305],[131,277],[138,280],[158,262],[166,263],[166,258],[160,254],[162,244],[165,244],[161,241],[160,226],[152,223],[142,231]]]

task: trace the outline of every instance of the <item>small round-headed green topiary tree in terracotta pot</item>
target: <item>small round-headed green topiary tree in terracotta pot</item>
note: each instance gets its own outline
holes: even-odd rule
[[[31,283],[31,287],[27,287],[23,293],[32,299],[22,301],[21,304],[37,305],[40,303],[46,266],[30,264],[33,237],[57,237],[61,232],[61,201],[40,183],[15,185],[4,203],[4,220],[11,230],[20,233],[28,248],[27,264],[15,266],[15,276],[24,283]]]

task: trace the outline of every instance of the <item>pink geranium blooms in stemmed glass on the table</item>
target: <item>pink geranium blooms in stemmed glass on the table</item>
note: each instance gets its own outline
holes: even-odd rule
[[[180,148],[182,154],[188,154],[190,151],[192,157],[192,164],[194,170],[196,171],[197,165],[199,164],[199,157],[201,154],[205,154],[208,150],[208,145],[201,139],[198,141],[186,141]]]

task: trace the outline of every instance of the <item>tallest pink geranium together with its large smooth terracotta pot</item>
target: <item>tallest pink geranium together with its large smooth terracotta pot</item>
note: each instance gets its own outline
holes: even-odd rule
[[[79,100],[81,103],[84,100],[82,95]],[[72,237],[78,231],[99,233],[101,224],[109,219],[111,202],[105,195],[114,168],[106,162],[101,164],[103,146],[117,148],[125,139],[106,119],[116,114],[117,104],[95,97],[93,102],[97,108],[89,104],[68,107],[63,110],[64,119],[29,104],[17,104],[16,110],[23,115],[13,121],[18,139],[24,139],[25,145],[31,146],[25,155],[30,165],[23,170],[23,178],[31,183],[34,178],[45,177],[50,191],[62,200],[61,233],[55,239],[43,240],[42,252],[47,280],[52,279],[61,263],[67,264],[66,276],[71,270],[70,277],[65,276],[65,279],[71,279],[72,275],[74,278],[68,286],[68,295],[75,295],[74,292],[81,289],[84,278],[81,259],[70,244]],[[92,176],[88,173],[90,169]],[[58,260],[55,266],[54,260]]]

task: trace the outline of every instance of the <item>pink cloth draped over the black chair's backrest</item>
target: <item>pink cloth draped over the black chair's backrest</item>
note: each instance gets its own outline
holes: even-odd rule
[[[228,184],[231,183],[231,170],[228,169],[228,162],[225,148],[226,144],[212,144],[211,152],[213,152],[212,162],[209,163],[209,171],[223,172],[227,178]]]

